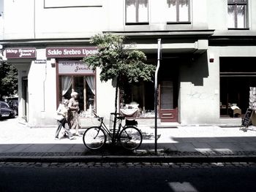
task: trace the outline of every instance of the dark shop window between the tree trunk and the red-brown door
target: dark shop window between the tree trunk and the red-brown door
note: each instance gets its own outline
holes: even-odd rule
[[[133,118],[154,117],[154,83],[124,85],[120,91],[120,112]]]

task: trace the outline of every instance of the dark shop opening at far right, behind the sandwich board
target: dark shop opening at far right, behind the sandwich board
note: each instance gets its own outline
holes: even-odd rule
[[[249,87],[256,87],[256,58],[220,58],[219,61],[220,116],[241,117],[249,107]]]

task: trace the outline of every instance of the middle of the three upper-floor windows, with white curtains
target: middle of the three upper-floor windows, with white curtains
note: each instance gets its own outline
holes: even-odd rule
[[[190,23],[190,0],[167,0],[167,23]]]

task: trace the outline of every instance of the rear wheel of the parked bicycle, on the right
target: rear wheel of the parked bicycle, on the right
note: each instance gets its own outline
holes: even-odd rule
[[[118,139],[121,146],[125,149],[136,150],[141,145],[142,134],[138,128],[134,126],[127,126],[121,130]]]

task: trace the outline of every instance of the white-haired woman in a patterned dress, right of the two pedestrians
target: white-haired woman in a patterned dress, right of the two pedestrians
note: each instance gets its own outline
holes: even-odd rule
[[[67,123],[69,125],[69,128],[74,128],[75,135],[81,136],[78,131],[78,129],[81,126],[80,126],[80,118],[78,115],[79,103],[78,103],[78,93],[77,92],[71,93],[71,99],[69,99],[68,109],[69,110],[67,113]]]

